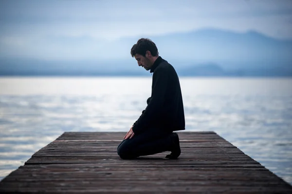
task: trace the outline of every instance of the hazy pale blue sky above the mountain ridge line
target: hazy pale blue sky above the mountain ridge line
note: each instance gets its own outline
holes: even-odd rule
[[[0,0],[2,57],[69,57],[75,39],[85,58],[91,41],[201,28],[291,39],[292,0]]]

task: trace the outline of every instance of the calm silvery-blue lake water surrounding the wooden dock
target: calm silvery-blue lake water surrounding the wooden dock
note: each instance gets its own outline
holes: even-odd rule
[[[0,179],[64,131],[128,131],[146,78],[0,78]],[[217,132],[292,183],[292,79],[180,78],[186,130]]]

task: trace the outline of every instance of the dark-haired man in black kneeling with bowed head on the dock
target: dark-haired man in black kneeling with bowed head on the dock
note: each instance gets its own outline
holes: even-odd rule
[[[172,65],[159,56],[156,45],[146,38],[138,40],[131,49],[132,57],[152,77],[151,97],[139,119],[118,146],[122,159],[171,151],[166,158],[177,159],[181,154],[179,136],[184,130],[183,98],[178,75]]]

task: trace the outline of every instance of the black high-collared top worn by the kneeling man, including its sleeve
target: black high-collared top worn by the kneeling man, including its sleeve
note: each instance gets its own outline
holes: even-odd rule
[[[134,123],[133,132],[139,134],[156,127],[168,131],[184,130],[183,97],[178,75],[172,65],[158,57],[150,69],[151,97],[147,107]]]

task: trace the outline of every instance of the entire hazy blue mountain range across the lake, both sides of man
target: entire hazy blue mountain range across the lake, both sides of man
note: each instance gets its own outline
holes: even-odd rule
[[[101,40],[87,38],[88,44],[106,45],[109,49],[108,55],[100,60],[36,60],[0,54],[0,76],[149,76],[129,54],[139,38],[103,40],[102,44]],[[292,76],[292,40],[279,40],[254,31],[216,29],[148,38],[180,76]],[[78,47],[82,40],[66,39],[64,44],[68,42]]]

